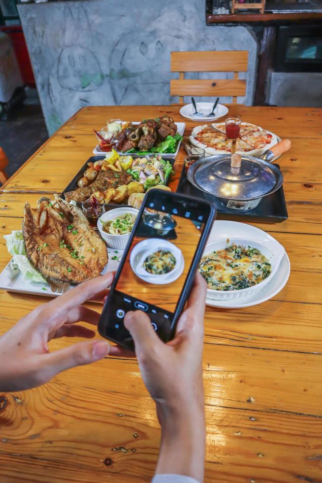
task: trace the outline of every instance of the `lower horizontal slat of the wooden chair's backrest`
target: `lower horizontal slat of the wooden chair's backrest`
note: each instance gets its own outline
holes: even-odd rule
[[[171,79],[171,96],[245,96],[245,79]]]

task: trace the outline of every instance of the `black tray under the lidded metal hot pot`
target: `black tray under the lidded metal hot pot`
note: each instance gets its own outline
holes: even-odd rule
[[[275,163],[274,163],[275,164]],[[279,168],[278,164],[275,164]],[[195,196],[198,198],[205,198],[203,192],[195,188],[186,177],[186,170],[183,166],[180,180],[177,187],[177,193]],[[207,198],[209,200],[209,198]],[[284,196],[283,185],[275,193],[264,196],[259,205],[251,211],[238,211],[229,208],[223,208],[219,202],[216,202],[214,197],[214,204],[217,207],[217,218],[219,220],[234,220],[234,221],[259,221],[264,223],[281,223],[288,219],[288,210]]]

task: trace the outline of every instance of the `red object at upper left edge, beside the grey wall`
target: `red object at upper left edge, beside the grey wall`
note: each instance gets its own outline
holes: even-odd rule
[[[32,65],[21,25],[2,26],[0,27],[0,31],[6,35],[9,35],[12,40],[24,84],[27,84],[29,87],[35,87]]]

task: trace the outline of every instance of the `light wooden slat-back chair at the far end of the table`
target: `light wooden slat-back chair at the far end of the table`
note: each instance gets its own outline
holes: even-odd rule
[[[248,51],[227,50],[210,52],[171,52],[171,72],[179,72],[179,79],[171,79],[170,94],[179,96],[231,96],[233,104],[237,96],[245,96],[246,80],[239,79],[239,72],[247,72]],[[185,79],[185,72],[234,72],[233,79]]]

